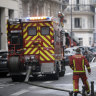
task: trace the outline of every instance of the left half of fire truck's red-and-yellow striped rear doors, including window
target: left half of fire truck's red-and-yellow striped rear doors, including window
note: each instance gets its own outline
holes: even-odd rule
[[[24,55],[39,54],[40,41],[37,29],[37,23],[23,23]]]

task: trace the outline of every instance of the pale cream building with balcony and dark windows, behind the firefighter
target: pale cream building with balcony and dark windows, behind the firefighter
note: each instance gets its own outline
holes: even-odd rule
[[[92,0],[69,0],[64,28],[75,35],[81,46],[92,46],[95,7]],[[72,22],[72,23],[71,23]]]

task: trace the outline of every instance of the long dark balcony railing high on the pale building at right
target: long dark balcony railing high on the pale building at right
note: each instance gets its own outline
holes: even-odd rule
[[[71,7],[67,7],[66,12],[71,12]],[[92,5],[77,5],[72,6],[72,12],[94,12],[95,7]]]

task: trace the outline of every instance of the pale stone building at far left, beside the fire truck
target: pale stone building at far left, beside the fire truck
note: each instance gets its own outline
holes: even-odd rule
[[[0,50],[7,50],[6,21],[17,18],[18,0],[0,0]]]

